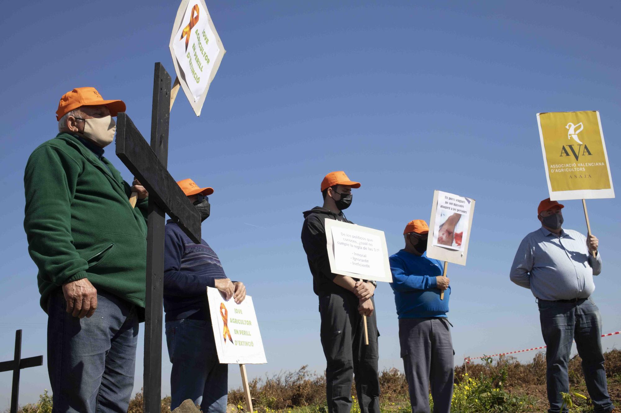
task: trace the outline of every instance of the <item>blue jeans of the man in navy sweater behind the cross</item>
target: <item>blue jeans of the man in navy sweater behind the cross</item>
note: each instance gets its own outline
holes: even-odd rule
[[[218,360],[211,321],[166,321],[166,344],[173,363],[171,411],[184,400],[191,399],[194,404],[201,405],[203,412],[225,413],[229,365],[220,364]]]

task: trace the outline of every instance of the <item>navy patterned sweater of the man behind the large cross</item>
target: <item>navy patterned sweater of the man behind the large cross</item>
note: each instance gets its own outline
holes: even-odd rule
[[[164,311],[166,321],[184,318],[210,321],[207,287],[227,278],[220,259],[204,239],[194,242],[172,220],[164,241]]]

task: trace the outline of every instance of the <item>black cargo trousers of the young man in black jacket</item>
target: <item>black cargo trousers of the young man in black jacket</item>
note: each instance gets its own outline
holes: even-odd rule
[[[373,298],[371,298],[373,300]],[[351,382],[361,413],[379,413],[378,327],[373,315],[366,318],[369,344],[365,344],[363,317],[353,293],[325,293],[319,296],[321,344],[324,347],[326,396],[329,413],[349,413]]]

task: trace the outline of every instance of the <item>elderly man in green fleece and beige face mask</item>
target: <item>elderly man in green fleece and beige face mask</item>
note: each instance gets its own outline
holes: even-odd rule
[[[147,191],[104,158],[120,100],[93,87],[60,99],[56,138],[24,174],[24,229],[48,314],[54,411],[127,412],[145,306]],[[129,195],[138,193],[137,208]]]

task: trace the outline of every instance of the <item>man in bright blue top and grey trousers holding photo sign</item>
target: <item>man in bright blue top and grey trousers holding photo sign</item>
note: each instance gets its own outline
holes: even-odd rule
[[[450,413],[455,352],[446,313],[451,287],[442,276],[442,262],[425,254],[428,233],[424,220],[407,224],[406,247],[390,257],[391,286],[412,413],[429,413],[430,384],[433,413]]]

